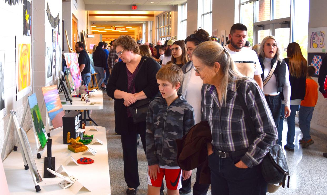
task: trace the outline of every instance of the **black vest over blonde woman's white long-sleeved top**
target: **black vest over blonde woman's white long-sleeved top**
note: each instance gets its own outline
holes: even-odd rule
[[[262,68],[261,78],[262,78],[262,81],[264,81],[264,79],[266,79],[266,78],[264,78],[264,71],[265,71],[264,60],[265,60],[265,58],[262,57],[261,55],[259,55],[258,58],[259,58],[259,62],[260,62],[261,68]],[[275,64],[276,60],[277,60],[277,56],[275,55],[275,57],[271,60],[271,68]],[[285,61],[284,60],[282,62],[278,61],[275,71],[273,73],[276,77],[277,92],[283,91],[283,86],[285,85],[285,71],[286,71]]]

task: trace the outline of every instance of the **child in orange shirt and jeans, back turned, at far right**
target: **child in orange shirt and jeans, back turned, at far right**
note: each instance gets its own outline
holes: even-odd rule
[[[303,148],[306,148],[315,143],[310,136],[310,122],[312,113],[315,109],[318,100],[318,85],[311,78],[315,74],[316,69],[313,66],[308,66],[307,78],[305,81],[305,97],[301,101],[299,110],[299,127],[302,131],[303,138],[299,140]]]

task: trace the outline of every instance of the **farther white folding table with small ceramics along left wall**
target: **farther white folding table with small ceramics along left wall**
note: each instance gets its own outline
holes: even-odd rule
[[[62,108],[64,110],[84,110],[84,124],[86,124],[86,121],[92,121],[95,126],[98,126],[95,121],[90,117],[89,110],[101,110],[103,109],[103,91],[98,90],[95,92],[90,92],[95,97],[90,97],[89,100],[91,102],[98,102],[100,104],[93,104],[93,105],[86,105],[86,101],[81,101],[80,97],[72,97],[73,102],[70,104],[70,102],[65,101],[64,93],[60,93],[60,101],[66,102],[66,104],[62,105]],[[76,94],[72,94],[76,95]],[[86,119],[86,113],[88,119]]]

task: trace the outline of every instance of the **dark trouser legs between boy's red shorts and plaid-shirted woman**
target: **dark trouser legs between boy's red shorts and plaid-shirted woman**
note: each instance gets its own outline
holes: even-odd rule
[[[206,195],[210,186],[208,184],[199,183],[201,169],[202,169],[201,165],[197,167],[197,180],[193,185],[193,195]],[[188,193],[190,191],[191,191],[191,177],[185,181],[182,178],[182,188],[180,189],[180,192]]]

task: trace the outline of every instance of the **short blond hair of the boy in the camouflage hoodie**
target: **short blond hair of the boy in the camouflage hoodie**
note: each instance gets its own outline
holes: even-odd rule
[[[176,86],[178,83],[182,84],[184,78],[184,73],[180,67],[174,63],[168,63],[156,74],[156,79],[163,81],[168,81],[173,86]]]

